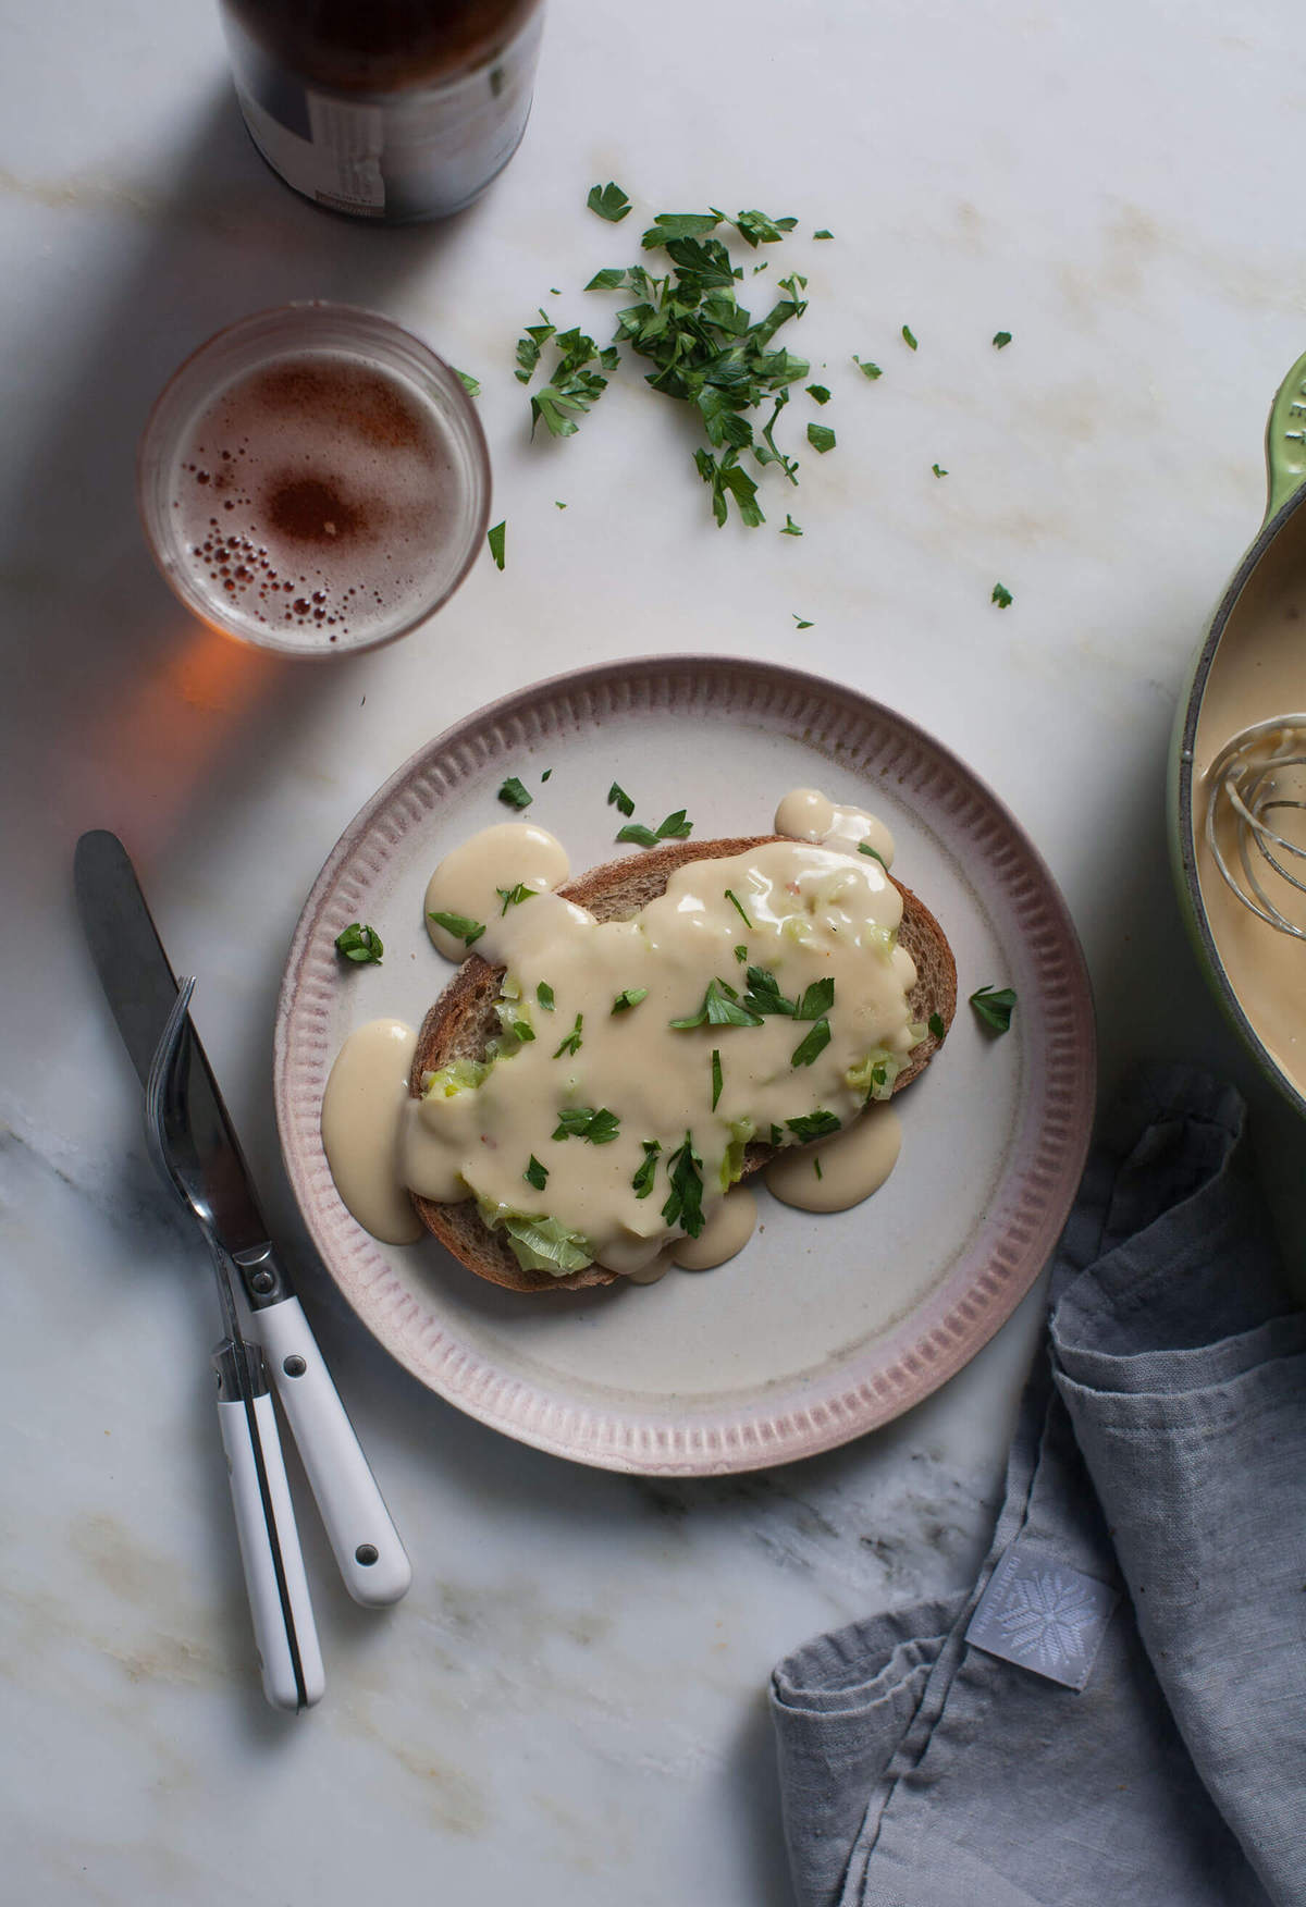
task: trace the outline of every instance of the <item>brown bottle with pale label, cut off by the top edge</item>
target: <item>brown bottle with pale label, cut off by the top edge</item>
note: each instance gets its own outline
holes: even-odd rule
[[[517,151],[541,0],[221,0],[250,137],[305,198],[439,219]]]

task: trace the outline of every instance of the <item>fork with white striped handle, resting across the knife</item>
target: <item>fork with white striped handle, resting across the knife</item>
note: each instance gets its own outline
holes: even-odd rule
[[[185,1093],[177,1077],[177,1060],[189,1028],[193,992],[194,978],[181,980],[151,1062],[145,1083],[145,1142],[160,1177],[198,1224],[214,1264],[225,1333],[214,1350],[217,1425],[231,1472],[231,1501],[263,1671],[263,1693],[275,1709],[297,1711],[320,1701],[326,1676],[267,1367],[261,1348],[248,1343],[240,1331],[233,1297],[235,1266],[229,1253],[214,1234],[208,1209],[196,1201],[187,1175],[177,1165],[177,1150],[187,1142]]]

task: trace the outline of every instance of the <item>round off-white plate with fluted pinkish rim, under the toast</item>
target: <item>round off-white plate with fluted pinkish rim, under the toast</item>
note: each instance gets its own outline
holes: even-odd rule
[[[543,770],[551,770],[541,782]],[[574,870],[614,852],[612,780],[639,816],[688,807],[700,837],[766,833],[799,786],[871,809],[894,871],[957,957],[955,1026],[898,1100],[902,1158],[848,1213],[759,1196],[759,1230],[713,1272],[522,1297],[435,1240],[378,1245],[341,1205],[318,1118],[345,1036],[419,1024],[450,969],[423,933],[435,862],[507,818],[505,776]],[[631,852],[639,852],[633,849]],[[370,921],[381,967],[336,934]],[[965,1007],[1014,986],[1012,1030]],[[900,715],[759,662],[650,658],[557,677],[423,748],[337,841],[305,904],[276,1024],[276,1118],[313,1240],[368,1329],[421,1383],[494,1428],[582,1463],[709,1474],[787,1463],[896,1417],[951,1377],[1035,1280],[1089,1140],[1094,1036],[1066,906],[1016,822]]]

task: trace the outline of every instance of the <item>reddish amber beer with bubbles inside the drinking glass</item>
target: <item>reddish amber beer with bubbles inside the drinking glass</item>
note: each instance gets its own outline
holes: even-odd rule
[[[446,425],[366,359],[296,353],[236,378],[196,412],[170,488],[194,584],[254,641],[374,643],[448,587]]]

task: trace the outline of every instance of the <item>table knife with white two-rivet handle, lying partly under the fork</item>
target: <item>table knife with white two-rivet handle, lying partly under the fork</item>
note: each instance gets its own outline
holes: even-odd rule
[[[122,841],[107,830],[76,845],[74,887],[82,929],[128,1055],[141,1077],[168,1015],[177,980],[145,904]],[[398,1602],[412,1564],[398,1541],[376,1478],[358,1446],[322,1352],[276,1257],[269,1226],[194,1030],[189,1068],[189,1121],[214,1234],[240,1278],[276,1396],[294,1434],[332,1552],[355,1602]]]

